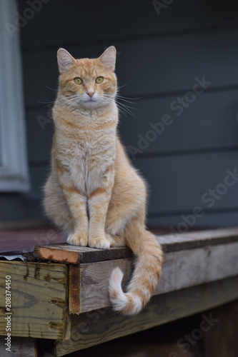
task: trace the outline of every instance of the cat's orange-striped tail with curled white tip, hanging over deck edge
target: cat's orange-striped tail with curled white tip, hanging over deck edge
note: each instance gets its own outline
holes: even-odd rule
[[[127,238],[128,246],[137,256],[127,292],[122,291],[123,273],[114,268],[109,280],[109,298],[115,311],[126,315],[139,313],[152,296],[162,271],[162,248],[154,234],[144,231],[141,238]]]

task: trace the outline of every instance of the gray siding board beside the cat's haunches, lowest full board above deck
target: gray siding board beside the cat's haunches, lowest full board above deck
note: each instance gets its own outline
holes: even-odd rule
[[[224,187],[227,170],[238,173],[237,158],[238,150],[232,153],[142,158],[133,164],[149,183],[150,215],[169,216],[169,212],[173,215],[174,212],[190,212],[196,206],[208,211],[238,211],[238,178],[234,181],[231,176],[228,182],[234,181],[234,184]],[[41,183],[46,180],[48,172],[46,165],[31,166],[31,180],[34,182],[31,198],[41,197]],[[221,184],[223,187],[220,187]],[[220,197],[211,200],[210,189],[217,190],[216,196]]]

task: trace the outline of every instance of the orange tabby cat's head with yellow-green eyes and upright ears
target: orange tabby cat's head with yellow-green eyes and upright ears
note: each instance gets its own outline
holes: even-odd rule
[[[96,109],[116,96],[116,49],[110,46],[97,59],[74,59],[65,49],[57,53],[59,94],[71,108]]]

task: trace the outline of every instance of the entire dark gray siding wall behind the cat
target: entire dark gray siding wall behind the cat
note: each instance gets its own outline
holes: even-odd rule
[[[27,8],[19,0],[19,13]],[[21,29],[32,187],[0,195],[1,220],[43,217],[53,124],[51,105],[42,102],[56,96],[57,49],[96,57],[114,45],[119,94],[136,108],[135,117],[121,114],[119,133],[125,146],[140,151],[131,159],[149,183],[149,224],[186,230],[184,216],[199,206],[204,214],[189,216],[191,226],[237,225],[238,182],[224,184],[227,170],[238,171],[235,2],[174,0],[157,11],[147,0],[51,0]],[[211,83],[193,94],[203,77]],[[151,122],[161,128],[165,114],[170,125],[161,134],[149,132]],[[143,149],[142,137],[149,139]]]

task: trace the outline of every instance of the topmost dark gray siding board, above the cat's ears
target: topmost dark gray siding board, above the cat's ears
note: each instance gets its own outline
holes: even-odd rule
[[[19,12],[24,14],[29,5],[25,0],[19,4]],[[32,51],[53,45],[127,40],[130,36],[166,35],[227,25],[237,25],[237,8],[231,1],[227,6],[222,1],[174,1],[158,16],[148,0],[51,0],[22,29],[22,46],[25,51]]]

